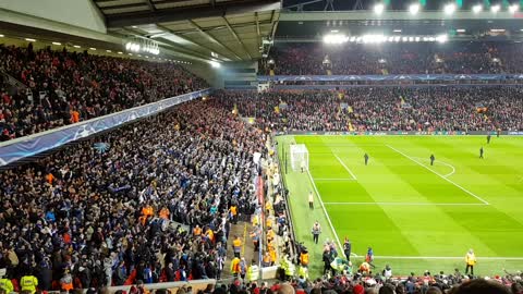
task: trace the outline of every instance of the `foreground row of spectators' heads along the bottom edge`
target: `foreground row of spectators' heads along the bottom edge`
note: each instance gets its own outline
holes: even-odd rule
[[[470,279],[460,272],[452,274],[410,275],[401,279],[386,279],[376,275],[339,274],[331,278],[306,280],[292,279],[288,282],[242,283],[234,281],[230,285],[217,284],[215,294],[521,294],[523,283],[521,274],[495,277],[491,279]]]

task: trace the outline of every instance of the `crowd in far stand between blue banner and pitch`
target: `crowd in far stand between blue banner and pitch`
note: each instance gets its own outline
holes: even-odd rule
[[[523,130],[519,87],[362,87],[220,96],[242,117],[254,117],[263,128],[277,131]]]

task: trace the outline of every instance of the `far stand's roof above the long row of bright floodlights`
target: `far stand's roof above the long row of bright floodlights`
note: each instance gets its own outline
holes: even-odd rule
[[[449,34],[449,39],[518,40],[523,38],[521,14],[489,11],[473,13],[459,11],[446,15],[441,11],[424,11],[411,15],[408,11],[386,11],[381,15],[373,11],[344,12],[282,12],[276,41],[320,40],[330,32],[351,35],[439,35]],[[492,32],[494,29],[494,32]]]

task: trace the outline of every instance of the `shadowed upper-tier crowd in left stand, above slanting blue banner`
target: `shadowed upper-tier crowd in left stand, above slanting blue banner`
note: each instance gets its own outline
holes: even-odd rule
[[[0,45],[0,71],[27,88],[0,84],[2,140],[88,120],[206,87],[171,63]]]

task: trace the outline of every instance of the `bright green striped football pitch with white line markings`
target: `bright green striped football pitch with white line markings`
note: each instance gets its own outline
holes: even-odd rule
[[[355,266],[372,246],[376,270],[388,264],[394,274],[463,272],[470,248],[476,274],[523,269],[523,137],[492,136],[488,145],[486,136],[281,136],[278,143],[312,278],[323,271],[323,246],[312,242],[315,220],[320,243],[351,241]],[[308,172],[292,170],[291,144],[305,144]]]

